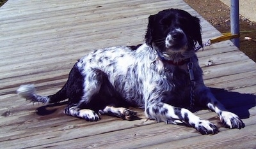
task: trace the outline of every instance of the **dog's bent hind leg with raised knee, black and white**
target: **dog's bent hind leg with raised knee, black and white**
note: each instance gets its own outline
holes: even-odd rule
[[[70,90],[67,90],[69,104],[65,108],[64,113],[91,122],[100,120],[99,115],[93,110],[97,109],[95,108],[96,106],[104,107],[101,105],[104,103],[100,99],[95,99],[95,96],[100,92],[104,79],[106,79],[106,75],[100,69],[90,69],[80,79],[70,77],[67,83],[70,86]],[[83,81],[77,82],[77,80]],[[81,84],[83,87],[77,87],[76,83],[83,83]]]

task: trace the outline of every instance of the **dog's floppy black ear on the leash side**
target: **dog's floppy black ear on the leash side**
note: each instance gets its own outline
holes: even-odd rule
[[[201,30],[200,20],[197,17],[193,17],[193,22],[195,24],[195,26],[193,27],[194,28],[193,29],[193,34],[194,34],[193,39],[195,40],[195,42],[198,42],[198,44],[200,46],[203,46],[202,35],[201,35],[202,30]]]

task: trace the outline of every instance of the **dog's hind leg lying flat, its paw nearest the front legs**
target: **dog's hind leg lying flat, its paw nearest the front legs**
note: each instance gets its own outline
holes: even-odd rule
[[[120,117],[123,120],[135,120],[137,112],[122,107],[106,106],[104,110],[99,110],[100,115],[110,115],[114,117]]]

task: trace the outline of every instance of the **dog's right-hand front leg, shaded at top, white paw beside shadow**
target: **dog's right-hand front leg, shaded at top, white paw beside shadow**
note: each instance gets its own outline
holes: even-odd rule
[[[221,123],[230,129],[241,129],[244,127],[243,121],[234,113],[226,110],[211,93],[211,91],[204,85],[197,87],[196,99],[202,106],[207,106],[210,110],[216,112],[221,120]]]

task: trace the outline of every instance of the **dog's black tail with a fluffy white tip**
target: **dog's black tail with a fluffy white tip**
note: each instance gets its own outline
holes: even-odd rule
[[[19,89],[17,89],[17,94],[33,103],[58,103],[67,99],[66,85],[56,94],[51,96],[40,96],[36,94],[36,88],[33,84],[20,85]]]

